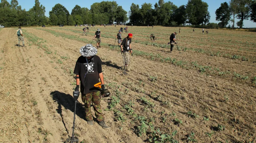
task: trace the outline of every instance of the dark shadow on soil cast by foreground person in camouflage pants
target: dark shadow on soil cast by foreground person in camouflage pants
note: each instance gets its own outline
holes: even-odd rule
[[[63,109],[62,109],[61,105],[63,105],[63,107],[65,109],[69,109],[70,111],[72,111],[74,113],[75,100],[74,100],[73,96],[71,96],[70,94],[62,93],[59,91],[53,91],[50,93],[50,95],[52,96],[52,99],[55,102],[58,102],[58,109],[56,109],[56,111],[60,114],[60,116],[62,118],[63,125],[67,131],[68,136],[69,136],[68,129],[67,129],[66,124],[63,119],[63,115],[62,115]],[[76,102],[76,115],[82,119],[85,119],[85,109],[83,108],[83,104],[81,104],[78,101]],[[70,123],[70,124],[72,124],[72,123]]]

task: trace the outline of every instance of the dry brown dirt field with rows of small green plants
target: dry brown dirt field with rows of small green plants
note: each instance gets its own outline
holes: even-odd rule
[[[27,47],[19,48],[16,29],[0,29],[0,142],[59,143],[72,135],[73,70],[97,28],[112,94],[101,104],[111,129],[89,126],[79,98],[75,135],[82,143],[256,142],[255,32],[181,28],[179,48],[169,53],[179,27],[128,26],[133,54],[124,75],[120,27],[91,27],[87,36],[82,27],[23,28]]]

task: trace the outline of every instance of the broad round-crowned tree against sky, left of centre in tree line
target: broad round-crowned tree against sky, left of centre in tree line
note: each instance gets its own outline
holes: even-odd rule
[[[49,12],[50,15],[50,19],[52,15],[56,15],[58,20],[57,20],[57,25],[63,24],[66,25],[67,24],[67,18],[69,16],[69,12],[67,11],[67,9],[61,5],[61,4],[56,4],[52,10]],[[53,21],[51,21],[52,23],[54,23]]]

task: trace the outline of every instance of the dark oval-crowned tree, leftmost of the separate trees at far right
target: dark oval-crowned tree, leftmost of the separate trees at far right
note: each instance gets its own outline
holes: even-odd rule
[[[230,8],[227,2],[221,3],[220,7],[215,11],[216,20],[221,21],[221,27],[227,27],[231,19]]]

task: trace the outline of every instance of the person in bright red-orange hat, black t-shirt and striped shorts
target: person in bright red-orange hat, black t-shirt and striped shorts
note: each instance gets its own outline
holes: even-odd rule
[[[130,53],[132,54],[131,42],[132,42],[132,34],[129,33],[128,36],[123,39],[121,46],[120,46],[121,53],[124,53],[125,70],[127,72],[130,71],[128,64],[130,62]]]

